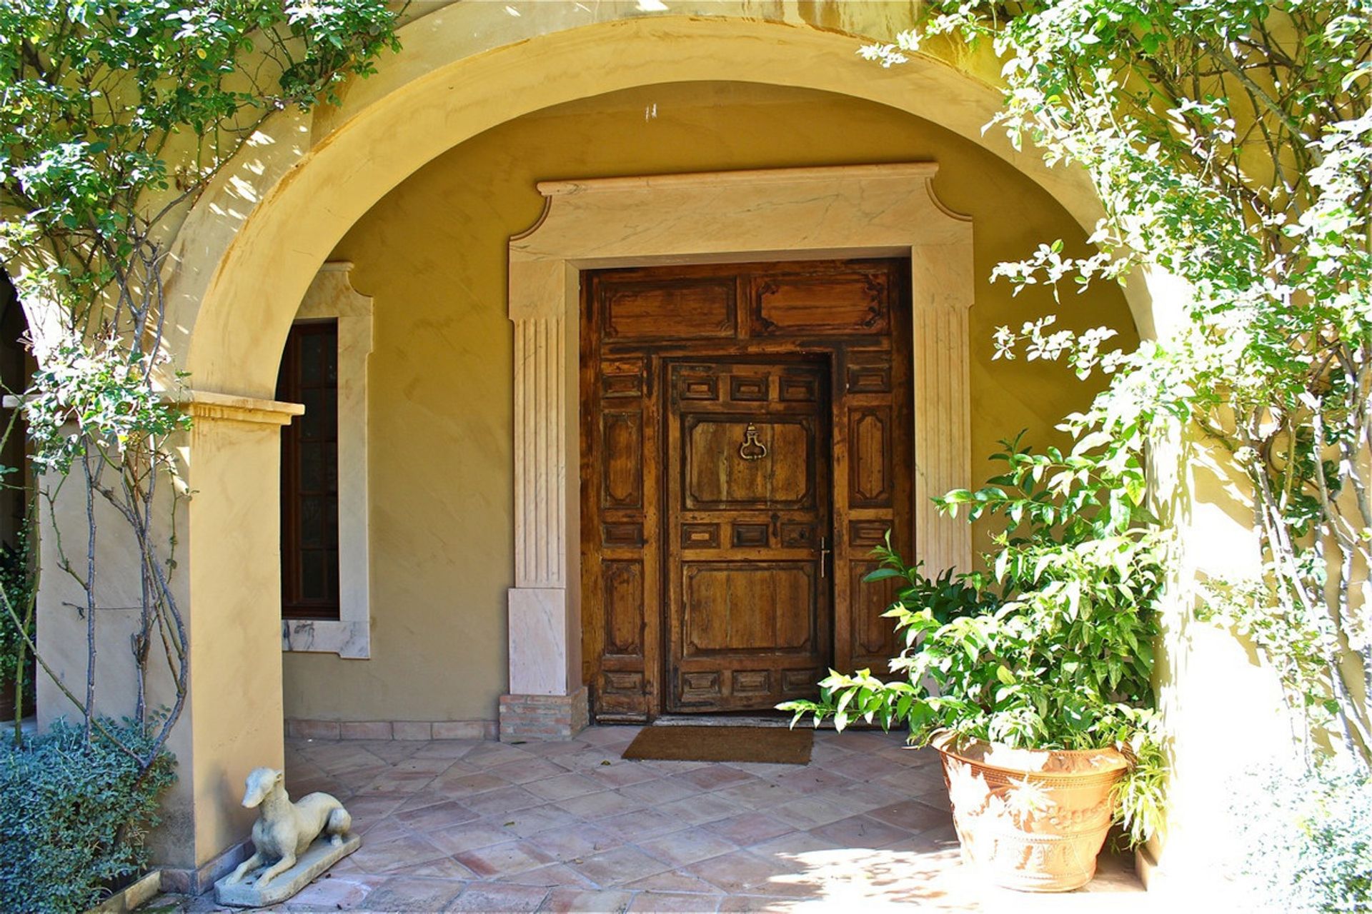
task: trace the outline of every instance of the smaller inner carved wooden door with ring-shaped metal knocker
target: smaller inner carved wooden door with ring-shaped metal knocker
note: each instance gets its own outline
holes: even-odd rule
[[[829,371],[667,366],[667,710],[814,695],[831,656]]]

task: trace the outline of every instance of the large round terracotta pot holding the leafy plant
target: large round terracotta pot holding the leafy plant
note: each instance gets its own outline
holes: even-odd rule
[[[934,737],[963,859],[1028,892],[1091,881],[1110,830],[1110,789],[1129,767],[1115,750],[1013,750]]]

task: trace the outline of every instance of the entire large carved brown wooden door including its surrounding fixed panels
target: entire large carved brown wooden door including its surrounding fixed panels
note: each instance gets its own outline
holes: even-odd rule
[[[766,710],[885,671],[911,530],[901,260],[583,277],[583,674],[598,719]]]

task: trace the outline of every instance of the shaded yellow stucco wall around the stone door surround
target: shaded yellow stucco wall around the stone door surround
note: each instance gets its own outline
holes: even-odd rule
[[[513,582],[510,234],[538,218],[535,181],[675,171],[937,160],[940,199],[975,226],[973,471],[996,439],[1080,408],[1063,366],[992,362],[991,333],[1045,310],[1065,326],[1132,322],[1107,289],[1011,300],[992,266],[1040,241],[1081,243],[1039,186],[952,133],[812,90],[675,84],[598,96],[495,127],[387,195],[332,259],[375,299],[369,370],[372,658],[288,654],[285,714],[317,719],[494,719],[506,689]],[[932,493],[929,493],[932,495]],[[978,530],[974,545],[985,544]]]

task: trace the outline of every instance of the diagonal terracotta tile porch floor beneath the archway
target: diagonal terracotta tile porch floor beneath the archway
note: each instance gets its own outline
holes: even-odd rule
[[[637,732],[291,740],[292,796],[335,793],[362,847],[284,910],[1142,909],[1133,872],[1113,859],[1067,896],[985,889],[959,863],[937,756],[899,736],[820,732],[801,767],[620,759]],[[207,898],[180,907],[214,910]]]

